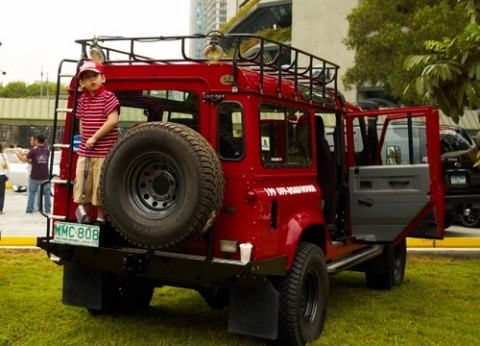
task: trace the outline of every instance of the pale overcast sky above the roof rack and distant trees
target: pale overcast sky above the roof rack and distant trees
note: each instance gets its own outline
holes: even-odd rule
[[[77,39],[189,34],[190,0],[13,0],[0,7],[0,84],[56,82]],[[43,72],[43,74],[42,74]]]

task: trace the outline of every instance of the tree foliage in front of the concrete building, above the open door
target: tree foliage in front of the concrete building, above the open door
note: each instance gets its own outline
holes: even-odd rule
[[[355,50],[354,66],[343,82],[347,88],[382,86],[403,104],[416,104],[417,94],[404,93],[415,71],[405,71],[408,55],[423,52],[426,40],[461,32],[468,15],[457,0],[364,0],[347,16],[344,43]]]

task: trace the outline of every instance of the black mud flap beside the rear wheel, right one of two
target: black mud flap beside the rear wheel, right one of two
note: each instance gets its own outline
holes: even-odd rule
[[[280,294],[270,281],[263,286],[234,286],[228,331],[269,340],[278,335]]]

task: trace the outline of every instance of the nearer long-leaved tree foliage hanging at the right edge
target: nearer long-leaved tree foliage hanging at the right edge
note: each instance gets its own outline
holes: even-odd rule
[[[405,69],[416,76],[407,90],[416,90],[457,123],[465,108],[480,108],[480,0],[462,2],[471,15],[464,30],[426,41],[424,54],[405,60]]]

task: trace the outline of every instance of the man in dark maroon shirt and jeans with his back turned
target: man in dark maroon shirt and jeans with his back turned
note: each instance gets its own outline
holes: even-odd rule
[[[48,173],[48,160],[50,157],[50,150],[45,146],[45,137],[43,135],[35,135],[35,147],[28,152],[22,153],[18,150],[17,157],[22,162],[28,162],[32,165],[30,172],[30,181],[28,184],[28,201],[27,214],[32,214],[35,207],[35,199],[40,186],[43,185],[43,208],[44,212],[49,214],[52,208],[52,201],[50,195],[50,183]]]

